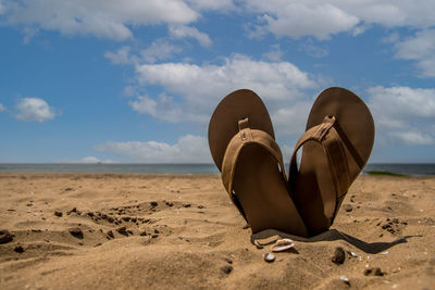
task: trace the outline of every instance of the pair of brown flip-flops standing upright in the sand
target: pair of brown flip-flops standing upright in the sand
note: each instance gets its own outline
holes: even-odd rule
[[[327,230],[368,162],[373,141],[368,106],[337,87],[315,100],[291,155],[288,178],[268,110],[253,91],[226,96],[209,124],[211,155],[252,234],[276,229],[310,237]]]

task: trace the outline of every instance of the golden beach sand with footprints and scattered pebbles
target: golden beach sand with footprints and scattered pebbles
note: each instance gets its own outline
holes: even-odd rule
[[[435,177],[360,176],[273,263],[217,175],[2,173],[0,225],[1,289],[435,289]]]

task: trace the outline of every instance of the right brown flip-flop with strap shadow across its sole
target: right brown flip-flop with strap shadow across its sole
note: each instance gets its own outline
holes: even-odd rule
[[[369,160],[373,141],[372,114],[357,94],[334,87],[318,97],[290,159],[288,179],[310,236],[331,227]],[[302,146],[298,169],[297,151]]]

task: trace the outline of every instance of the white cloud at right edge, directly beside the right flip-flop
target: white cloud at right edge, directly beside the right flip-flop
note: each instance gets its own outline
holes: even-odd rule
[[[435,143],[435,89],[372,87],[368,92],[382,142]]]

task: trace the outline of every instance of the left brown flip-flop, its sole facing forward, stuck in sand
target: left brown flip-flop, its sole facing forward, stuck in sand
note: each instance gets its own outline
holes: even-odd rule
[[[209,124],[211,155],[229,199],[252,232],[277,229],[307,236],[287,190],[283,156],[260,97],[241,89],[226,96]]]

